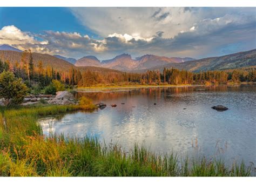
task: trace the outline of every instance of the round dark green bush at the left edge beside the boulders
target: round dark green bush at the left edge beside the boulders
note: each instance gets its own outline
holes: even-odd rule
[[[28,87],[22,83],[22,79],[15,78],[14,74],[4,71],[0,75],[0,97],[6,100],[7,106],[21,104]]]

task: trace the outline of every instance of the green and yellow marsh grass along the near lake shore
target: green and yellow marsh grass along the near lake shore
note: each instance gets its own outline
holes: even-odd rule
[[[105,145],[96,138],[45,137],[38,119],[44,115],[85,109],[80,105],[46,105],[1,108],[0,176],[250,176],[244,162],[226,165],[205,157],[163,156],[144,146],[129,152]],[[95,109],[87,106],[87,110]]]

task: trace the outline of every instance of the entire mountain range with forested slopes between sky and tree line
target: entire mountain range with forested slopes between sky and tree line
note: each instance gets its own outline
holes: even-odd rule
[[[21,60],[22,51],[10,45],[0,45],[0,59],[9,60],[14,64]],[[147,70],[160,70],[164,68],[175,67],[191,72],[200,72],[208,70],[228,70],[240,67],[256,67],[256,49],[228,54],[220,57],[210,57],[203,59],[163,57],[146,54],[132,59],[130,54],[124,53],[108,60],[100,60],[95,56],[85,56],[78,60],[66,58],[63,56],[50,54],[33,53],[35,65],[39,60],[43,62],[44,67],[51,66],[59,71],[69,71],[76,68],[79,70],[93,70],[99,72],[145,72]],[[75,64],[74,64],[75,63]]]

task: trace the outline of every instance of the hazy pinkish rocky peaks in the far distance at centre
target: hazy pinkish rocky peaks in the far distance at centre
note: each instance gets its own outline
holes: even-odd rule
[[[88,58],[83,57],[76,62],[76,66],[100,66],[108,69],[131,71],[131,70],[143,70],[150,67],[165,65],[168,63],[180,63],[188,60],[194,60],[193,58],[179,58],[179,57],[164,57],[155,56],[152,54],[146,54],[144,56],[132,59],[130,54],[123,53],[112,59],[103,60],[100,62],[96,57]]]

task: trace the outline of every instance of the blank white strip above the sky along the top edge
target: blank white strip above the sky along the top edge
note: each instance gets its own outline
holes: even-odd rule
[[[256,7],[255,0],[1,0],[0,6],[62,6],[62,7]]]

